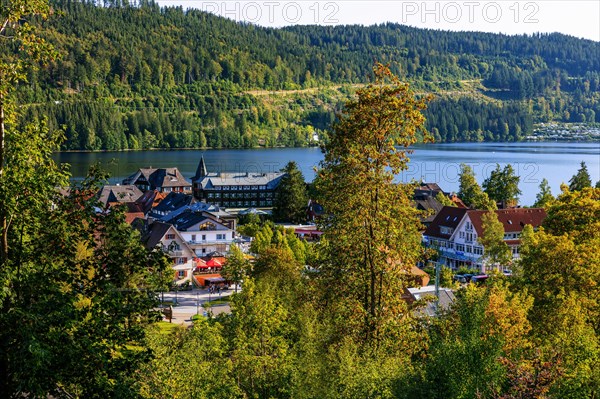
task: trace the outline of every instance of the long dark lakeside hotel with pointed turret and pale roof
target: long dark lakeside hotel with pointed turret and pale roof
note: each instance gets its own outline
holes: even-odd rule
[[[208,173],[200,158],[192,178],[194,197],[225,208],[271,208],[283,173]]]

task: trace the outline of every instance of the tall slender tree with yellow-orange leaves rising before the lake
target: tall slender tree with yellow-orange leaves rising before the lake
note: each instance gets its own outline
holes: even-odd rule
[[[321,226],[329,244],[319,277],[334,297],[326,301],[344,320],[338,328],[377,346],[402,320],[398,293],[420,254],[414,187],[394,178],[424,130],[426,100],[387,67],[374,72],[333,125],[316,185],[330,215]]]

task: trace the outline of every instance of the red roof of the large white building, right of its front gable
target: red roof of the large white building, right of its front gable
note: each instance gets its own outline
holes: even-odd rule
[[[468,211],[469,219],[471,219],[471,223],[473,223],[473,227],[479,236],[483,234],[481,217],[487,212]],[[546,211],[542,208],[499,209],[496,211],[496,215],[498,215],[498,220],[502,222],[505,233],[518,233],[528,224],[534,228],[540,227],[546,217]]]

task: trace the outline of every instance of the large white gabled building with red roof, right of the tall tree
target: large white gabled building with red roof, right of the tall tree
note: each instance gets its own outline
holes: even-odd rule
[[[483,235],[482,216],[487,212],[445,206],[423,233],[423,240],[429,248],[438,251],[442,264],[454,270],[464,266],[485,272],[484,248],[477,239]],[[511,249],[513,258],[518,259],[523,227],[531,225],[537,229],[546,217],[546,211],[512,208],[495,212],[504,227],[504,242]]]

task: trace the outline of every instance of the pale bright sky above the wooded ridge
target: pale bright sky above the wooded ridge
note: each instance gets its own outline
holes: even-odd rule
[[[600,41],[600,0],[158,0],[261,26],[373,25],[505,34],[561,32]],[[600,55],[599,55],[600,56]]]

